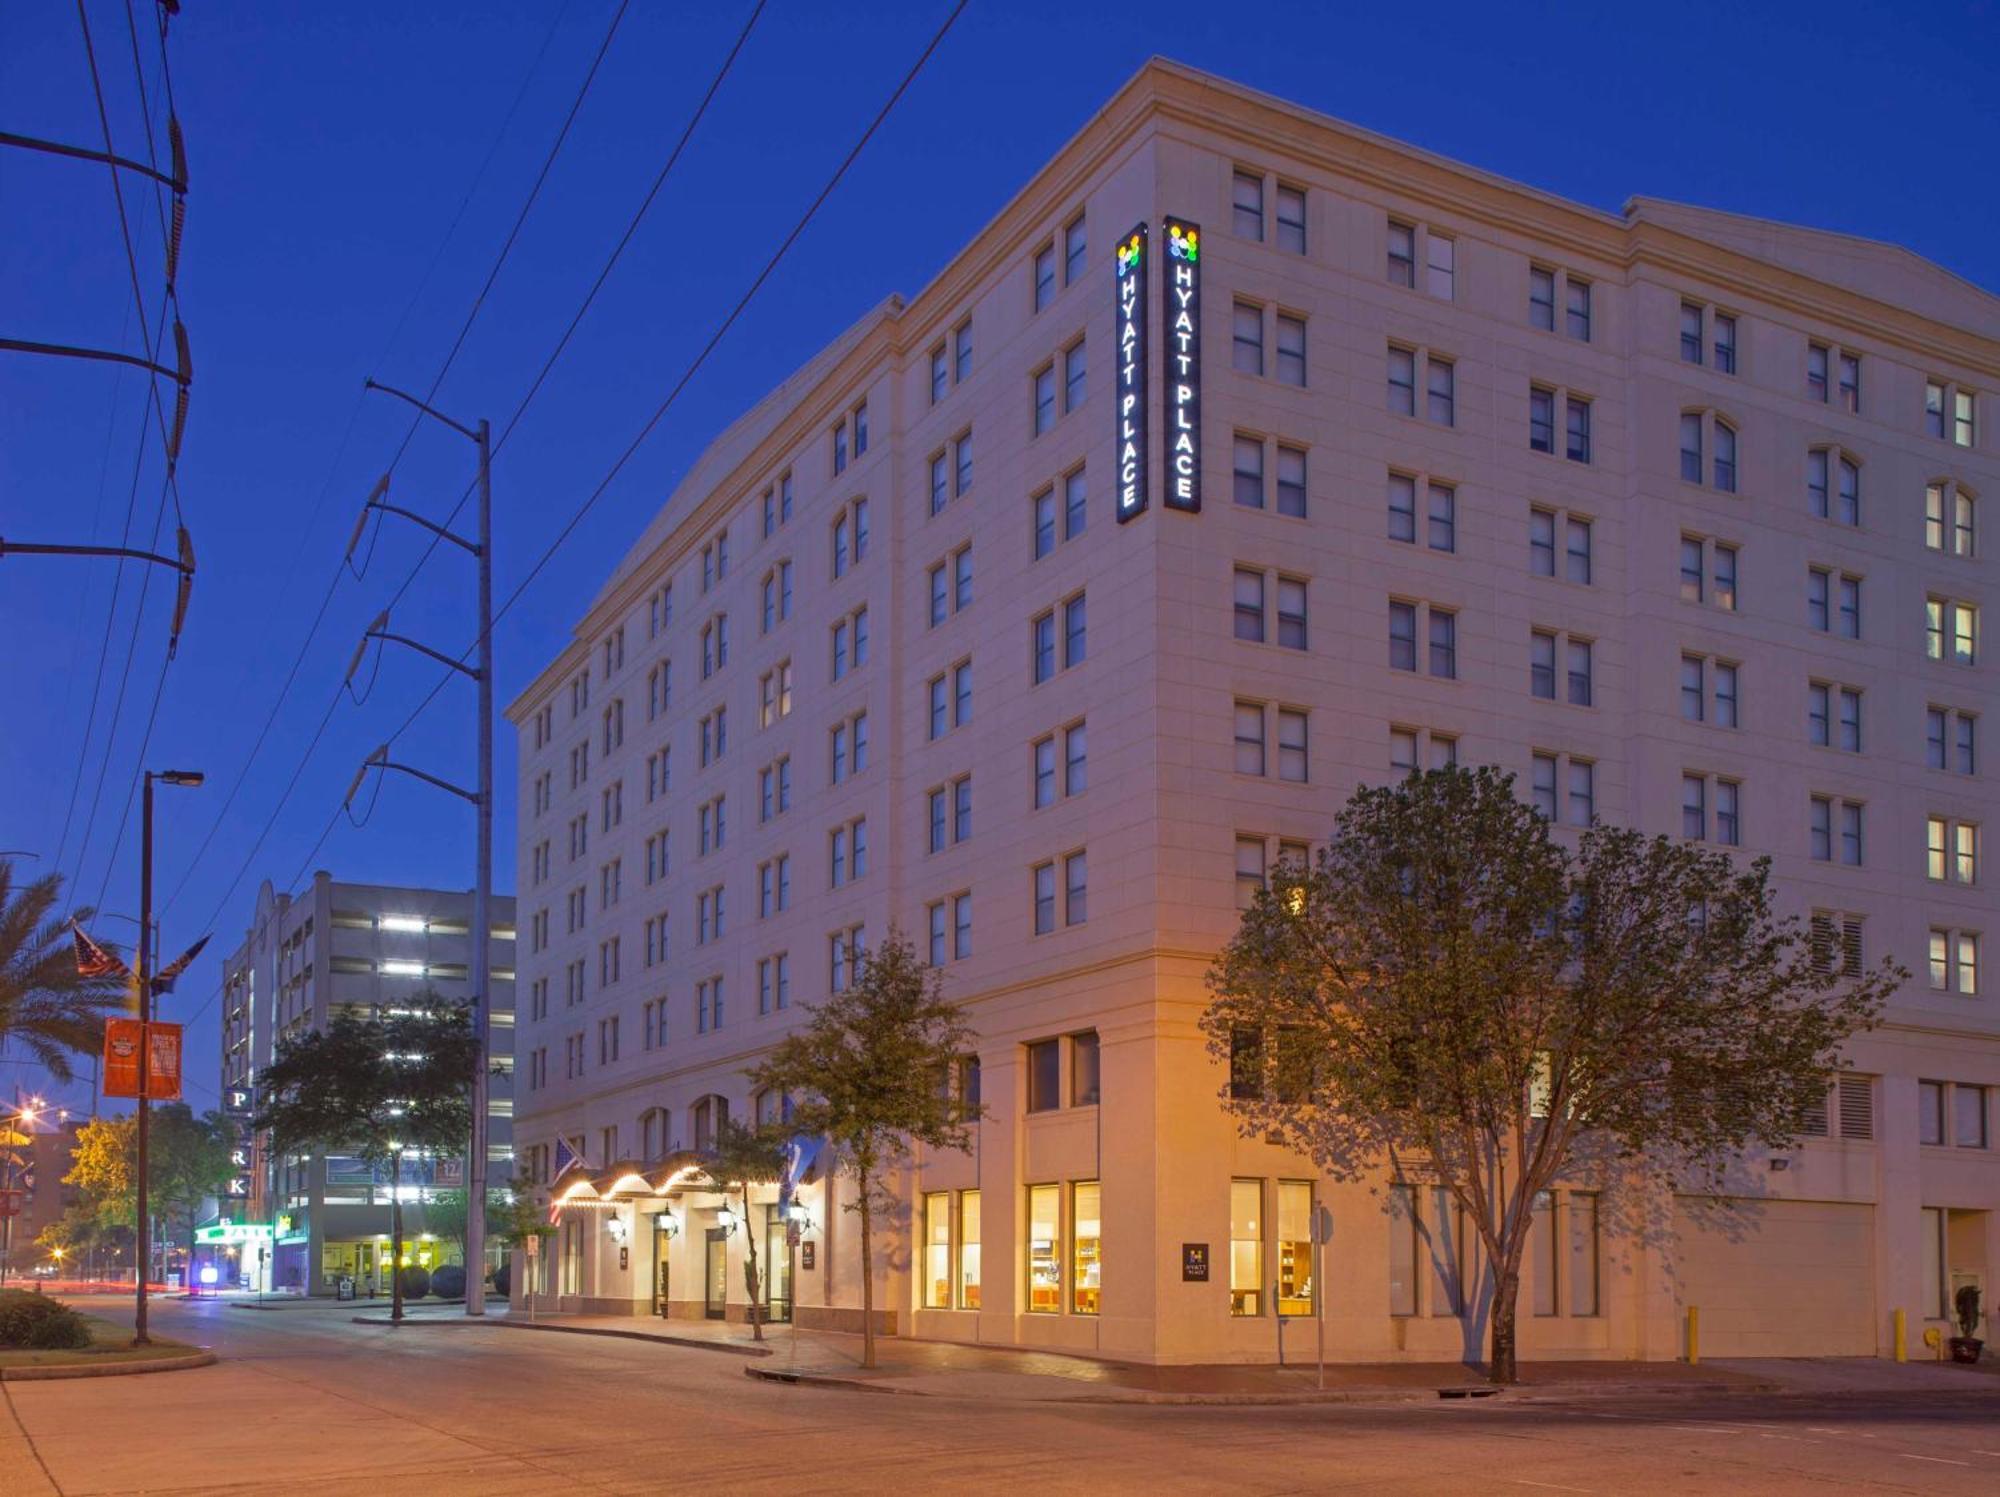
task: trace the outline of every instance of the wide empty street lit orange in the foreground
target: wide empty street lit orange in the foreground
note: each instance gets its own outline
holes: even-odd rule
[[[0,1495],[2000,1493],[2000,1397],[1076,1407],[758,1383],[742,1359],[168,1303],[224,1353],[0,1383]],[[106,1311],[108,1313],[108,1311]]]

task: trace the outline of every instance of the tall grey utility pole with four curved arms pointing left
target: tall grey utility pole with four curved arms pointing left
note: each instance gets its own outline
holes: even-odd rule
[[[486,1313],[486,1131],[488,1131],[488,1091],[490,1091],[490,1051],[492,1051],[492,883],[494,883],[494,548],[492,548],[492,426],[480,418],[476,428],[464,426],[450,416],[432,410],[428,404],[418,400],[406,390],[398,390],[380,380],[366,380],[364,388],[382,390],[382,394],[392,394],[398,400],[406,400],[420,412],[450,426],[454,432],[478,446],[480,470],[478,470],[478,520],[476,534],[478,540],[466,540],[452,534],[440,524],[432,524],[422,514],[400,508],[388,502],[388,474],[374,486],[368,502],[362,504],[360,522],[354,526],[354,536],[348,540],[348,556],[354,554],[354,546],[360,544],[362,528],[368,524],[368,510],[382,510],[386,514],[400,514],[406,520],[414,520],[422,528],[430,530],[440,540],[450,540],[462,550],[470,552],[478,564],[478,642],[476,658],[478,666],[466,668],[466,664],[442,650],[434,650],[414,638],[388,632],[388,614],[380,614],[374,624],[362,634],[360,648],[354,650],[354,660],[348,664],[348,678],[352,680],[354,670],[360,666],[362,650],[366,650],[370,638],[392,640],[396,644],[408,644],[420,654],[428,654],[442,664],[448,664],[460,674],[472,676],[474,688],[478,692],[478,732],[476,732],[476,757],[478,767],[476,789],[462,791],[460,787],[440,781],[434,775],[426,775],[408,765],[394,765],[388,759],[388,744],[382,744],[368,761],[362,765],[360,775],[348,787],[348,801],[352,803],[354,793],[360,789],[362,775],[368,773],[370,765],[380,769],[398,769],[406,775],[414,775],[428,785],[436,785],[442,791],[450,791],[472,803],[474,817],[478,823],[476,847],[474,847],[474,871],[472,871],[472,1033],[478,1037],[480,1063],[472,1075],[472,1139],[466,1149],[466,1315]]]

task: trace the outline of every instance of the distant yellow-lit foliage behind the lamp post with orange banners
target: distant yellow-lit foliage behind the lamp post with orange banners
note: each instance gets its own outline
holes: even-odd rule
[[[186,1103],[156,1103],[146,1143],[146,1195],[166,1233],[180,1231],[194,1249],[202,1203],[234,1173],[236,1127],[222,1113],[194,1115]],[[76,1131],[64,1185],[82,1191],[104,1227],[132,1227],[138,1215],[138,1121],[94,1117]]]

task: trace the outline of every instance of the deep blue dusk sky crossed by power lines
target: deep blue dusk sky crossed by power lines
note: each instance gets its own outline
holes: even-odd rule
[[[496,596],[514,588],[636,434],[948,8],[772,0],[496,462]],[[420,536],[390,526],[368,574],[340,584],[270,740],[190,875],[358,506],[408,428],[406,408],[360,400],[362,376],[430,384],[614,0],[188,0],[184,10],[170,58],[192,162],[180,300],[196,384],[180,494],[200,582],[148,761],[208,773],[202,791],[160,793],[156,859],[158,899],[180,891],[166,907],[168,953],[216,933],[164,1013],[198,1015],[188,1071],[190,1101],[204,1107],[216,1081],[210,999],[220,955],[242,939],[258,883],[288,887],[302,873],[362,757],[438,676],[392,652],[368,700],[334,710],[272,835],[232,887],[360,630],[418,554]],[[152,4],[136,0],[136,12],[156,96]],[[124,4],[90,0],[88,14],[114,138],[142,156]],[[748,0],[634,0],[442,386],[446,410],[498,426],[514,408],[748,14]],[[2000,6],[1990,2],[974,0],[744,320],[502,622],[498,700],[560,646],[710,436],[882,296],[930,280],[1152,54],[1592,206],[1648,194],[1864,234],[2000,288]],[[0,128],[102,142],[72,4],[0,8]],[[446,238],[496,134],[490,166]],[[140,346],[106,178],[98,166],[0,150],[0,334]],[[126,212],[152,312],[156,208],[138,180],[128,182]],[[134,492],[140,396],[136,374],[106,364],[0,352],[0,534],[116,542]],[[424,430],[396,468],[396,496],[442,514],[470,470],[460,438]],[[144,542],[160,498],[158,438],[136,494]],[[146,598],[102,801],[94,819],[86,813],[140,570],[126,570],[60,863],[66,877],[78,873],[88,821],[78,899],[94,903],[102,887],[104,909],[126,915],[138,909],[136,797],[116,867],[108,857],[160,672],[164,574]],[[0,849],[40,853],[22,875],[58,867],[110,590],[110,562],[0,562]],[[468,562],[440,552],[396,624],[456,652],[472,638],[470,608]],[[446,686],[398,757],[470,779],[468,706],[468,686]],[[512,730],[502,722],[496,736],[496,879],[510,891]],[[448,797],[392,781],[372,823],[356,831],[342,821],[314,867],[340,879],[470,887],[472,819]],[[132,935],[118,921],[100,931]],[[16,1063],[0,1067],[0,1093],[16,1079],[34,1081]]]

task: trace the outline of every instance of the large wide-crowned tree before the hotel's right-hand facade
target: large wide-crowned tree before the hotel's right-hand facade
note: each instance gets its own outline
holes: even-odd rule
[[[1356,791],[1274,885],[1208,977],[1224,1103],[1336,1179],[1386,1159],[1450,1191],[1496,1383],[1542,1191],[1622,1165],[1720,1197],[1744,1149],[1796,1143],[1908,977],[1842,973],[1774,911],[1768,859],[1602,825],[1572,853],[1494,769]]]

